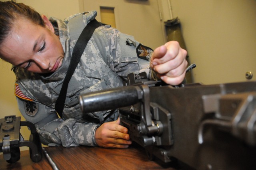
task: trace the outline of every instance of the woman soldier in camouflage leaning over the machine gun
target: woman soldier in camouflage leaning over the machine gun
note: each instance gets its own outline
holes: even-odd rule
[[[45,145],[127,148],[131,141],[127,128],[119,125],[118,112],[82,115],[78,96],[123,86],[130,72],[146,71],[149,78],[161,78],[172,85],[180,84],[185,77],[186,50],[178,42],[167,42],[153,52],[133,36],[99,26],[68,83],[59,118],[55,103],[74,46],[96,14],[90,11],[64,21],[53,17],[48,20],[22,3],[0,2],[0,57],[14,66],[19,110],[35,124]]]

